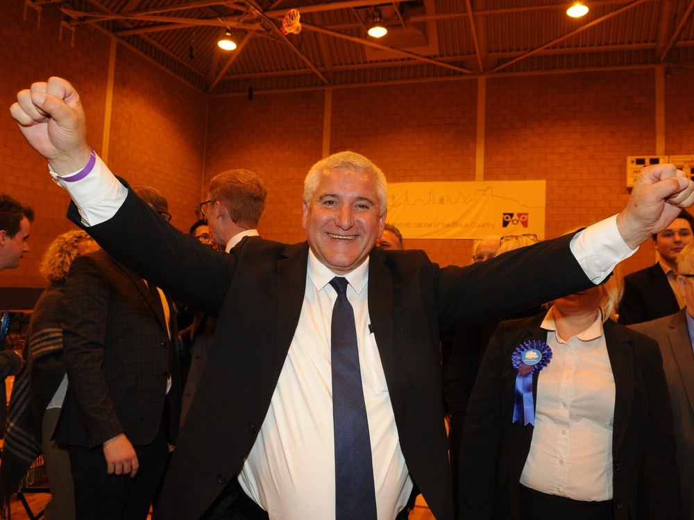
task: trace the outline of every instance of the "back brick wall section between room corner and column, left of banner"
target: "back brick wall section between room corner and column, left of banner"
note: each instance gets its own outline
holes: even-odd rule
[[[303,179],[321,159],[324,100],[318,91],[255,94],[253,101],[238,96],[210,100],[206,183],[232,168],[260,175],[268,196],[258,227],[267,239],[305,239]]]

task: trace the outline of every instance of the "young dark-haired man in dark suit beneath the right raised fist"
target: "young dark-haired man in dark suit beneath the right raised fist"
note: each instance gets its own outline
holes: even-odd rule
[[[683,209],[667,229],[653,234],[659,261],[625,277],[620,324],[655,320],[684,307],[684,298],[677,288],[677,255],[694,239],[693,223],[694,217]]]

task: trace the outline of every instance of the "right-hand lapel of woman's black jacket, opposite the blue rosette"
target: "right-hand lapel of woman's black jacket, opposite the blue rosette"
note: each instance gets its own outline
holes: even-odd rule
[[[614,378],[614,424],[612,428],[613,453],[617,453],[627,429],[627,422],[632,415],[634,400],[634,355],[628,336],[620,328],[607,320],[603,324],[607,355]]]

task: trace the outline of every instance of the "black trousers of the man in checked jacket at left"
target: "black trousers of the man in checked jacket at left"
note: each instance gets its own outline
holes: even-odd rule
[[[167,467],[169,448],[163,428],[154,442],[135,447],[139,462],[135,478],[109,475],[100,446],[71,446],[69,452],[77,520],[146,520]]]

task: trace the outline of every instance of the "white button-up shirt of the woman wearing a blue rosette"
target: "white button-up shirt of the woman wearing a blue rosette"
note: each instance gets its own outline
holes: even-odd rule
[[[554,308],[547,330],[552,359],[537,377],[535,427],[521,484],[579,501],[612,499],[615,386],[602,316],[564,340]]]

